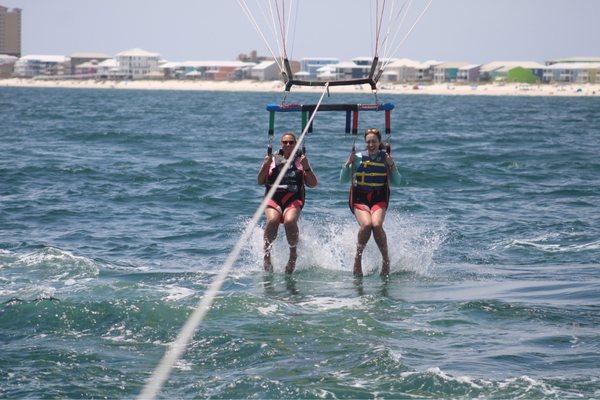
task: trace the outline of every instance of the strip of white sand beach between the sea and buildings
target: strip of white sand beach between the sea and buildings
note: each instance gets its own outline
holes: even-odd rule
[[[225,92],[283,92],[280,81],[184,81],[184,80],[135,80],[100,81],[86,80],[38,80],[6,78],[0,79],[2,87],[21,88],[64,88],[64,89],[116,89],[116,90],[186,90],[186,91],[225,91]],[[417,88],[417,89],[415,89]],[[294,92],[320,93],[322,87],[294,87]],[[370,93],[367,85],[335,86],[331,92]],[[486,83],[468,84],[400,84],[384,82],[379,85],[379,93],[448,96],[548,96],[548,97],[600,97],[600,84],[520,84]]]

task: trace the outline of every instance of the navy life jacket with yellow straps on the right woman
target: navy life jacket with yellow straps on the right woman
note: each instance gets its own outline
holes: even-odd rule
[[[369,157],[365,152],[358,168],[354,172],[354,179],[350,184],[350,193],[348,195],[348,206],[354,213],[354,202],[356,200],[356,190],[371,192],[374,190],[383,190],[389,203],[390,188],[388,184],[388,170],[385,164],[385,150],[379,150],[375,159]]]

